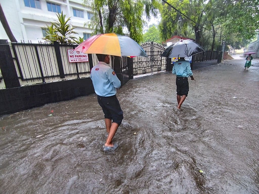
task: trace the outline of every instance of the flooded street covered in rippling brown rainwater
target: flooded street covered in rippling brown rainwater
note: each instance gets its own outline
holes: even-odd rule
[[[1,117],[0,193],[258,193],[259,59],[244,62],[196,67],[180,111],[171,73],[129,81],[115,153],[96,95]]]

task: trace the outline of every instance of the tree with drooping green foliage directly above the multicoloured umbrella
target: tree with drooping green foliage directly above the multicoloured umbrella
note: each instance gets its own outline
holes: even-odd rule
[[[85,25],[94,29],[93,34],[127,31],[132,39],[141,42],[142,28],[151,16],[157,16],[161,4],[159,0],[84,0],[93,8],[93,18]]]

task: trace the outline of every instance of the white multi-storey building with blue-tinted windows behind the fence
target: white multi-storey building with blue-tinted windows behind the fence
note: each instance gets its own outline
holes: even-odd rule
[[[57,20],[56,13],[63,11],[66,19],[75,27],[75,37],[90,37],[92,30],[84,27],[92,17],[91,7],[83,6],[82,0],[1,0],[1,5],[16,40],[37,43],[45,34],[43,27]],[[8,39],[0,23],[0,39]],[[9,39],[8,39],[9,40]]]

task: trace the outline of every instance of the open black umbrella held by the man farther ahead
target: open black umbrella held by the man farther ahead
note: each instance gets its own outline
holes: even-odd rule
[[[189,57],[197,53],[205,52],[205,50],[192,40],[180,40],[170,45],[161,56],[173,57]]]

